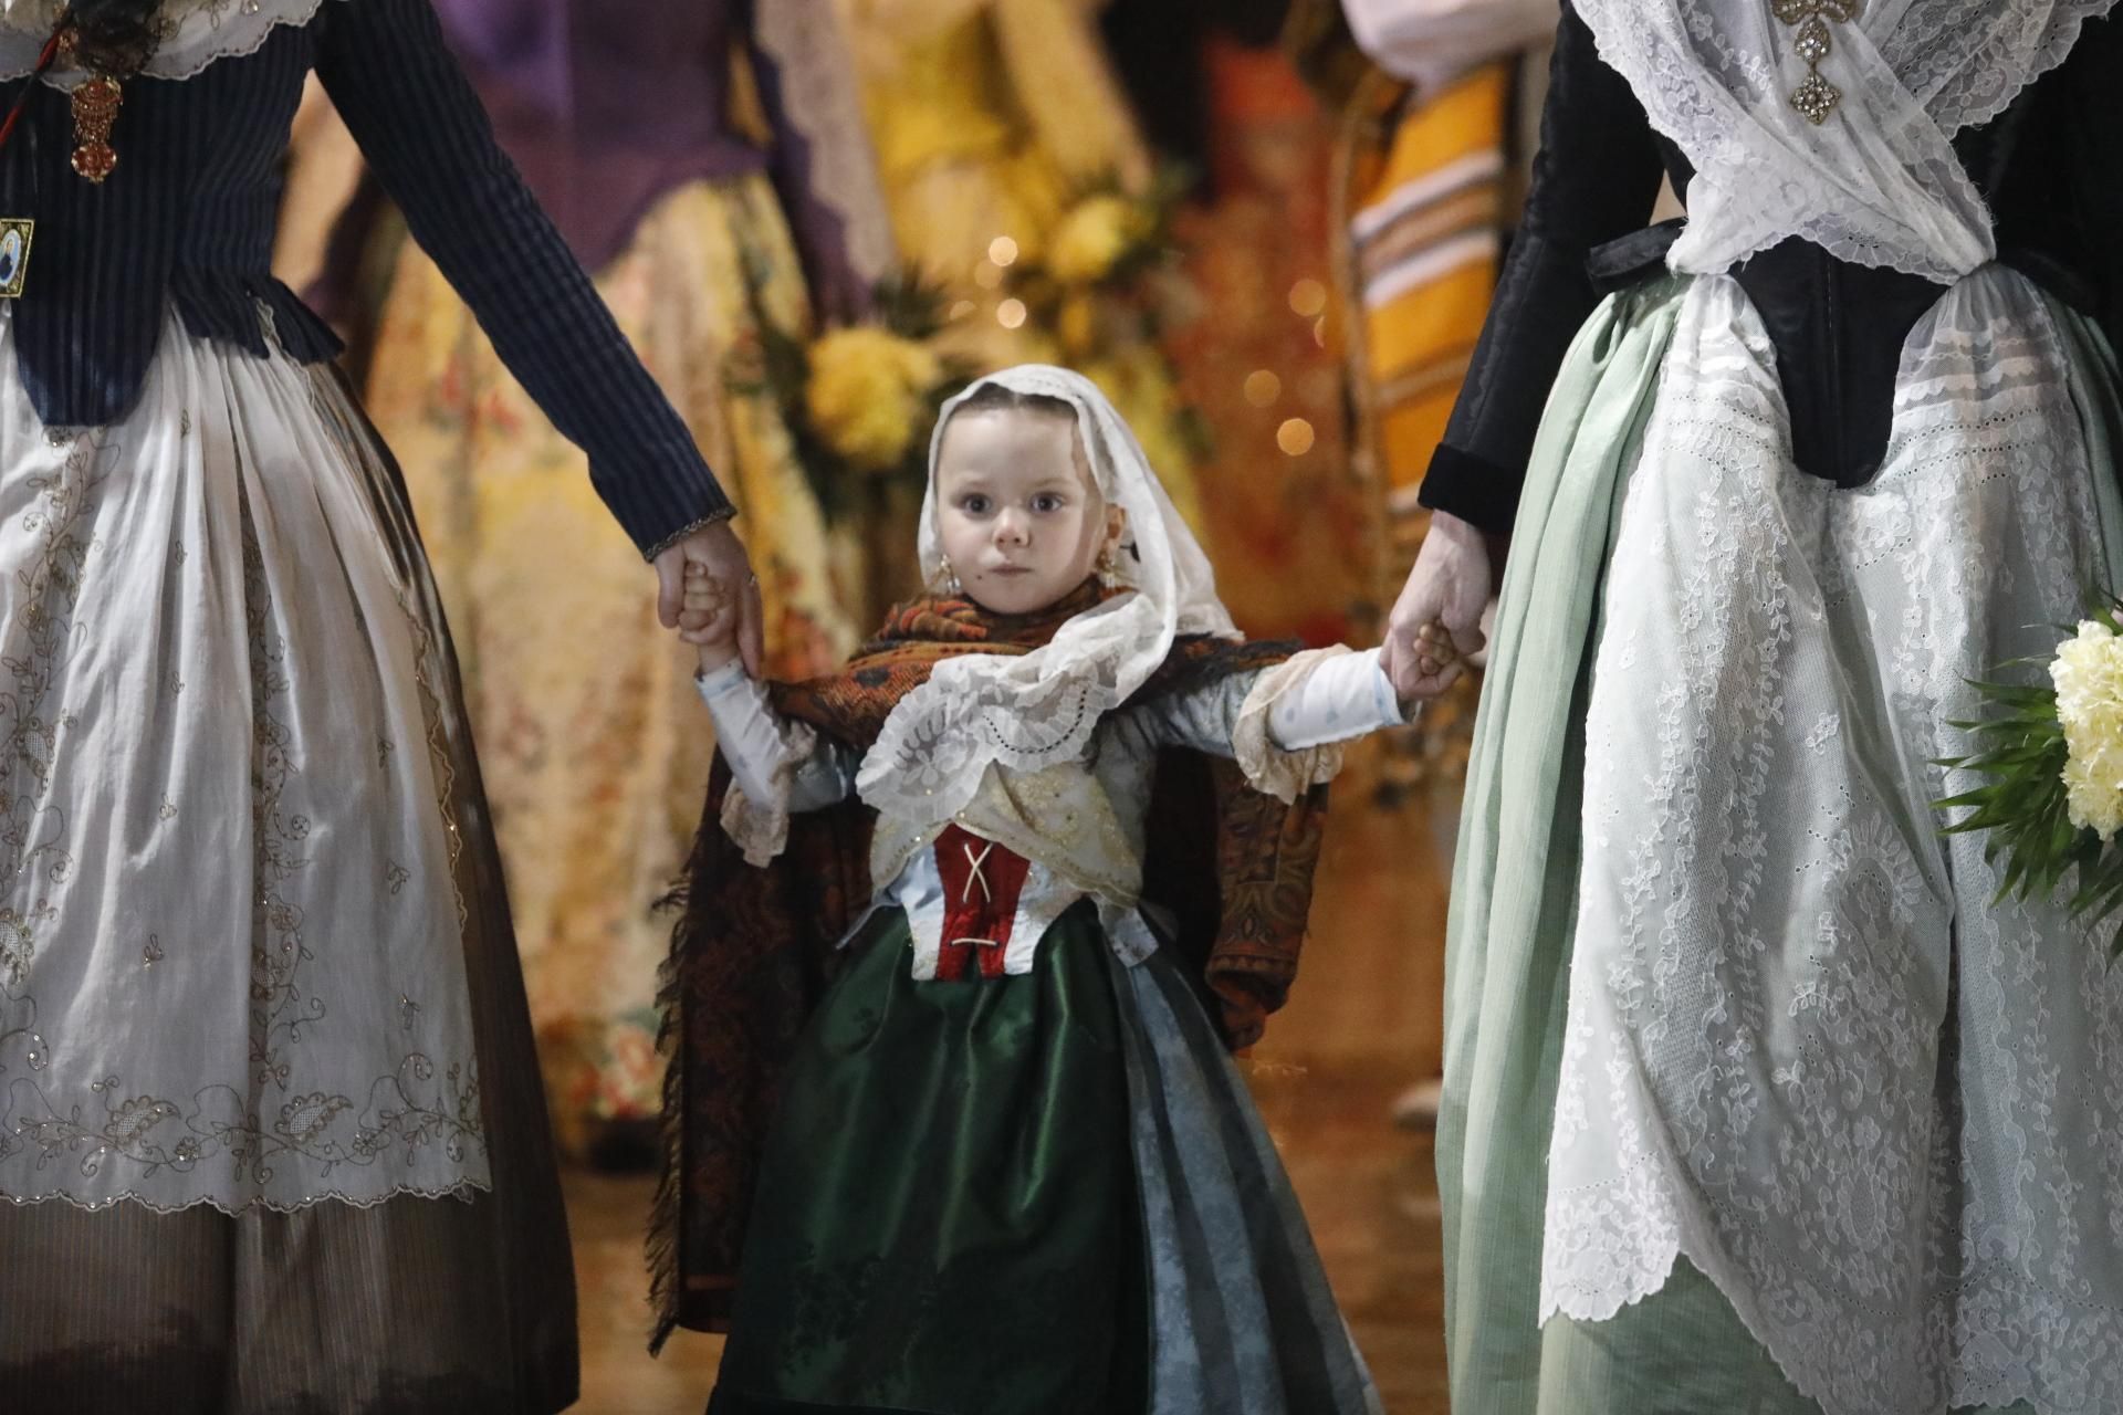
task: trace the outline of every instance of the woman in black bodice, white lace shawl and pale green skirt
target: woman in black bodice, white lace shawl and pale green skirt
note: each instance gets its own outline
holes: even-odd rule
[[[2123,974],[1934,808],[2123,579],[2112,2],[1565,6],[1386,649],[1439,692],[1509,541],[1454,1415],[2123,1409]]]

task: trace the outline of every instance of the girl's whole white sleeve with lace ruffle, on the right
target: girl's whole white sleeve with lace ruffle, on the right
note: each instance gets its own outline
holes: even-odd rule
[[[1310,649],[1149,709],[1144,726],[1172,747],[1238,762],[1255,789],[1297,800],[1342,770],[1342,745],[1403,721],[1378,649]]]

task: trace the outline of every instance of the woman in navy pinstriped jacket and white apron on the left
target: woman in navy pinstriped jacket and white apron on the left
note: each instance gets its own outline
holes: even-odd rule
[[[747,573],[429,0],[0,0],[0,242],[28,250],[0,261],[17,1415],[575,1398],[448,632],[335,339],[267,276],[312,66],[664,583]]]

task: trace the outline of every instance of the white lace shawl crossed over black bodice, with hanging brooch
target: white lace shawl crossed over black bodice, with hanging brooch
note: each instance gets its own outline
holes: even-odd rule
[[[1996,255],[1953,134],[2004,110],[2117,0],[1577,0],[1601,57],[1696,168],[1673,267],[1722,274],[1798,235],[1951,284]],[[1792,104],[1809,62],[1777,11],[1830,25],[1834,110]]]

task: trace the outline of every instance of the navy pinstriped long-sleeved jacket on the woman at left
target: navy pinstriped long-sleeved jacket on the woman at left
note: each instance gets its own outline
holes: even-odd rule
[[[495,144],[429,0],[329,0],[251,55],[193,78],[136,78],[110,134],[117,172],[70,168],[68,100],[38,85],[0,149],[0,216],[34,216],[15,350],[47,426],[119,422],[174,305],[195,337],[304,363],[340,342],[270,274],[282,155],[316,68],[369,165],[516,380],[590,454],[590,479],[643,554],[730,513],[686,424],[635,359],[567,244]],[[0,108],[21,89],[0,85]]]

